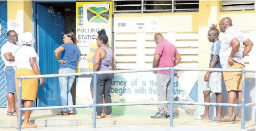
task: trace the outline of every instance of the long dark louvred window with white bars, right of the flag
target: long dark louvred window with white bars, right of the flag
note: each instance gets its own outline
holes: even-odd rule
[[[114,13],[198,12],[198,0],[114,0]]]

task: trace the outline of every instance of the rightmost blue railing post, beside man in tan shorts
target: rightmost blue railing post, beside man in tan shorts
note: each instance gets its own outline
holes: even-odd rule
[[[241,113],[241,129],[244,129],[245,119],[245,70],[242,71],[242,113]]]

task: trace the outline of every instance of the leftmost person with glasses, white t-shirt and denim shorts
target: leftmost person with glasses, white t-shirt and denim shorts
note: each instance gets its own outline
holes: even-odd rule
[[[15,90],[15,61],[12,52],[17,50],[18,35],[14,30],[9,30],[7,32],[8,41],[1,48],[1,57],[5,63],[4,73],[7,83],[7,101],[8,101],[8,111],[7,115],[17,115],[14,106],[14,93]]]

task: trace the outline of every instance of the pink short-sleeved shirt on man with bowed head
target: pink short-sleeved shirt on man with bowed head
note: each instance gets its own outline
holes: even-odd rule
[[[175,56],[179,54],[176,47],[167,40],[156,45],[155,53],[161,55],[157,68],[174,67]],[[157,71],[157,73],[170,74],[171,71]]]

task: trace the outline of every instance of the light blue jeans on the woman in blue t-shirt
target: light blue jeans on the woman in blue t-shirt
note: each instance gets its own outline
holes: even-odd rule
[[[67,73],[75,73],[75,72],[76,72],[75,70],[70,68],[59,69],[59,74],[67,74]],[[61,104],[63,106],[73,105],[73,99],[70,93],[70,89],[75,80],[75,76],[59,77],[58,80],[59,80]],[[69,110],[73,110],[73,108],[70,108]],[[68,109],[63,109],[63,111],[68,111]]]

